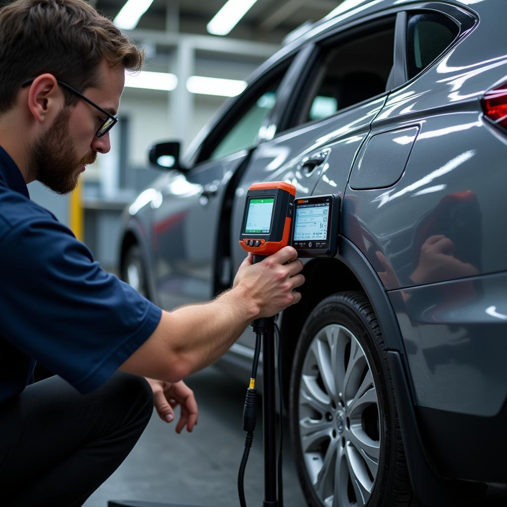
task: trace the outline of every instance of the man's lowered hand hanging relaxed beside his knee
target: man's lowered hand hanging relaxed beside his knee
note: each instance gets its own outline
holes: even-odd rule
[[[174,409],[180,406],[179,421],[176,425],[176,433],[180,433],[187,426],[191,432],[197,424],[197,402],[194,392],[183,380],[179,382],[163,382],[161,380],[146,377],[153,390],[155,408],[164,422],[174,420]]]

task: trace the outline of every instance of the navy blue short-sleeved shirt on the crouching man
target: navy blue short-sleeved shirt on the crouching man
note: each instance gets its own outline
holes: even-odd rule
[[[0,403],[30,382],[35,361],[92,391],[153,333],[161,310],[94,262],[30,200],[0,147]]]

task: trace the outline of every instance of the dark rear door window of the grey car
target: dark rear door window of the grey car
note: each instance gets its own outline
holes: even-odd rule
[[[394,19],[382,28],[322,47],[299,123],[319,120],[386,91],[393,64]]]

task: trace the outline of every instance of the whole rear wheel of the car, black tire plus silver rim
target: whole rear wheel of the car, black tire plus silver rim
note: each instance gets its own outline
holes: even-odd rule
[[[360,347],[357,347],[357,343]],[[331,362],[326,359],[327,344]],[[354,351],[353,361],[350,350]],[[334,367],[331,367],[331,353],[335,355]],[[327,383],[324,379],[326,374]],[[330,375],[334,379],[334,387],[330,383]],[[350,400],[346,389],[340,387],[340,378],[344,379],[341,385],[346,386],[349,394],[354,392],[352,385],[360,386]],[[328,391],[331,394],[325,398],[319,389],[324,394]],[[376,404],[369,401],[375,399]],[[329,400],[329,405],[319,404],[319,400]],[[324,406],[326,414],[322,413]],[[299,480],[306,500],[312,507],[356,505],[354,502],[360,488],[357,481],[354,487],[350,479],[351,470],[352,474],[360,472],[355,477],[361,478],[359,482],[368,483],[371,488],[369,496],[364,495],[365,501],[359,499],[357,505],[419,505],[408,476],[385,344],[372,306],[363,293],[346,292],[330,296],[321,301],[308,316],[294,357],[289,387],[289,424]],[[321,433],[325,433],[326,424],[330,428],[328,442],[328,437],[318,437],[315,429],[322,427]],[[356,438],[357,434],[362,440]],[[376,447],[367,447],[363,442],[375,442]],[[368,449],[368,452],[372,449],[372,455],[378,457],[371,458],[368,452],[361,454],[357,452],[359,448]],[[336,457],[333,453],[336,453]],[[375,476],[370,467],[374,468]],[[328,496],[331,489],[333,496],[337,495],[336,502]],[[363,494],[365,491],[366,487]]]

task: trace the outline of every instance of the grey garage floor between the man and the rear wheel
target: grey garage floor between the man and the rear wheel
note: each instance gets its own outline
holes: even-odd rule
[[[116,472],[86,501],[85,507],[106,507],[109,499],[130,499],[237,507],[237,473],[243,453],[242,385],[210,367],[188,379],[199,405],[199,424],[192,433],[174,432],[175,424],[154,413],[139,442]],[[262,411],[245,477],[248,507],[262,505]],[[288,442],[284,434],[284,500],[305,507]]]

